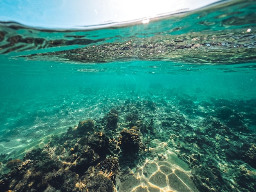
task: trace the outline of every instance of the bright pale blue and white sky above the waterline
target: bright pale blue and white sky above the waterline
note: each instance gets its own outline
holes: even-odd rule
[[[146,20],[205,7],[219,0],[0,0],[0,21],[50,29]],[[146,20],[148,21],[148,20]]]

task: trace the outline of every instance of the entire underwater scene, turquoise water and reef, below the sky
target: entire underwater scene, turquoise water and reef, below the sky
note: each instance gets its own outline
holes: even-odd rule
[[[255,192],[255,18],[0,22],[0,191]]]

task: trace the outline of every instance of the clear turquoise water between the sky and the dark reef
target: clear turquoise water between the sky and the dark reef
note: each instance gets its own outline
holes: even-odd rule
[[[65,132],[84,119],[103,118],[126,100],[152,100],[161,116],[161,102],[179,108],[180,98],[195,104],[256,99],[255,10],[254,1],[239,1],[147,25],[94,31],[15,29],[11,25],[16,24],[2,23],[0,153],[7,154],[6,159],[22,159],[28,150],[43,147],[52,134]],[[34,40],[8,45],[8,38],[16,35]],[[182,42],[175,42],[176,37]],[[43,44],[36,45],[36,38],[43,38]],[[85,38],[97,42],[87,44]],[[199,46],[192,49],[195,38]],[[56,40],[63,41],[51,43]],[[76,41],[67,43],[71,40]],[[154,48],[155,55],[150,56],[150,45],[167,45],[168,40],[175,49]],[[131,42],[147,48],[135,47],[133,53],[124,50],[125,57],[115,51],[112,56],[90,54],[88,60],[63,56],[70,50],[106,50],[100,46],[123,49]],[[177,49],[189,44],[192,48]],[[163,50],[164,54],[156,54]],[[199,114],[191,117],[202,118]],[[255,124],[247,126],[255,132]],[[160,124],[157,127],[164,130]]]

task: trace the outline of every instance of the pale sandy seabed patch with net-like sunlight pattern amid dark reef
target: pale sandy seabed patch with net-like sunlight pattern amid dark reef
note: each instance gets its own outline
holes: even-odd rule
[[[150,157],[135,172],[130,171],[126,178],[117,178],[117,191],[122,192],[198,192],[190,176],[191,170],[186,163],[167,146],[157,143],[150,148]],[[121,183],[121,181],[122,183]],[[124,180],[124,181],[123,181]]]

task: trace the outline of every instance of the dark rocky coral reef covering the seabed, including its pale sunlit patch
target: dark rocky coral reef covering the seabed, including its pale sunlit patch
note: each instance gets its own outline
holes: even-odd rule
[[[175,97],[124,100],[23,159],[1,154],[0,191],[256,191],[254,100]]]

